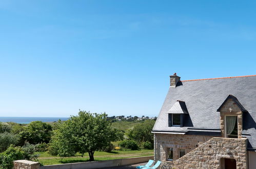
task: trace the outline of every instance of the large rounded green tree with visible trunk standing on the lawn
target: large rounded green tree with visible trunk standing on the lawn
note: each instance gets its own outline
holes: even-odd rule
[[[102,150],[110,141],[118,139],[120,132],[111,128],[106,113],[80,111],[78,116],[71,116],[59,125],[50,142],[50,149],[61,157],[88,152],[90,161],[93,161],[95,151]]]

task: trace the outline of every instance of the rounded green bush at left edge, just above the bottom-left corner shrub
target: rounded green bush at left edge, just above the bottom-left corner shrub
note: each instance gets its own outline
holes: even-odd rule
[[[4,152],[11,145],[17,145],[19,136],[12,133],[0,133],[0,152]]]

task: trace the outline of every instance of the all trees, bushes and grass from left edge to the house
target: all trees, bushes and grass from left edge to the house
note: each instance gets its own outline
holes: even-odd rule
[[[71,116],[67,121],[0,122],[0,168],[12,167],[12,160],[37,160],[35,152],[41,152],[39,159],[43,164],[72,162],[68,159],[73,158],[92,161],[95,160],[94,153],[97,152],[98,156],[101,151],[116,156],[96,157],[96,160],[125,158],[126,155],[121,157],[118,154],[128,152],[136,152],[136,155],[129,155],[132,157],[150,155],[142,152],[153,149],[151,130],[154,122],[155,118],[145,116],[107,117],[105,113],[86,111],[80,111],[78,116]],[[55,160],[42,159],[46,154]]]

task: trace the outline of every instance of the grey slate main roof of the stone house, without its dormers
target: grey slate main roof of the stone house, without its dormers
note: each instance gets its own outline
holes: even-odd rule
[[[187,134],[214,132],[213,135],[220,135],[220,112],[216,111],[229,95],[236,97],[248,111],[243,114],[242,136],[249,140],[248,149],[256,149],[256,75],[180,81],[176,88],[169,87],[152,131],[180,130]],[[177,100],[186,102],[189,116],[182,128],[174,130],[174,127],[168,127],[168,111]]]

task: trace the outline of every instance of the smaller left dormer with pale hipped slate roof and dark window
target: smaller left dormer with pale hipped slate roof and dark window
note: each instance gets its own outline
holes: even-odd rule
[[[188,114],[185,102],[177,100],[168,111],[168,126],[183,127],[185,114]]]

